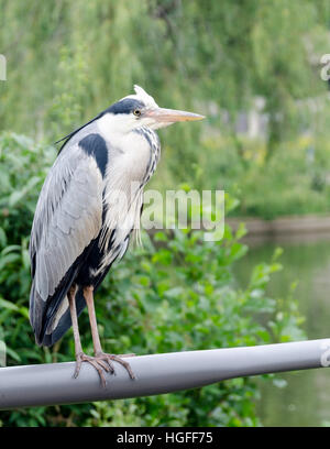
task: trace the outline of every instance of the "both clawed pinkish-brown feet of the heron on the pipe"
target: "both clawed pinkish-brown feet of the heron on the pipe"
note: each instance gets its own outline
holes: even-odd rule
[[[124,357],[132,357],[134,354],[123,354],[123,355],[114,355],[114,354],[106,354],[103,352],[97,353],[95,357],[87,355],[84,352],[80,352],[76,355],[76,370],[74,373],[74,377],[77,379],[80,372],[80,368],[82,362],[90,363],[98,372],[100,376],[100,381],[103,387],[107,385],[107,381],[105,377],[105,372],[110,374],[116,374],[113,361],[120,363],[124,369],[128,371],[130,377],[133,380],[135,375],[130,366],[130,364],[122,360]]]

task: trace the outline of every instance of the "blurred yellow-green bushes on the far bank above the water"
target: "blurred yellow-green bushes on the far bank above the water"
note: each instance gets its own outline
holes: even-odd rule
[[[330,145],[321,133],[278,144],[265,160],[265,142],[240,138],[243,157],[223,136],[202,142],[200,183],[231,191],[240,200],[237,216],[274,219],[280,216],[329,213]]]

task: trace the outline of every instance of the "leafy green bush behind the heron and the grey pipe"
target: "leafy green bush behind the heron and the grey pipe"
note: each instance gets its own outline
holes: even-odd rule
[[[68,361],[70,332],[52,349],[40,349],[28,319],[30,269],[26,253],[37,194],[55,156],[15,134],[0,138],[0,329],[8,364]],[[228,209],[235,201],[227,198]],[[103,349],[136,354],[262,344],[301,338],[293,300],[267,297],[274,260],[255,266],[246,289],[235,285],[232,266],[246,247],[241,227],[226,227],[219,242],[201,231],[144,234],[107,276],[96,296]],[[82,346],[91,352],[88,317],[79,320]],[[111,382],[111,381],[110,381]],[[1,412],[3,426],[256,426],[252,379],[154,397]]]

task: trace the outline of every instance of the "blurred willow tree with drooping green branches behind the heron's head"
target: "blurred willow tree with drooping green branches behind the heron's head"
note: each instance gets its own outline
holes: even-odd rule
[[[270,118],[270,156],[297,131],[296,101],[324,90],[311,64],[326,48],[323,0],[0,0],[0,10],[1,129],[56,139],[138,83],[168,107],[216,103],[229,120],[216,112],[213,127],[244,160],[234,123],[256,96]],[[170,168],[183,178],[195,176],[202,127],[167,138]]]

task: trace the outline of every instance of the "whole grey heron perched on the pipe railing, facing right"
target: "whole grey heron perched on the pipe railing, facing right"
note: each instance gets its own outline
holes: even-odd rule
[[[30,321],[40,346],[53,346],[73,327],[77,377],[90,363],[106,384],[113,361],[134,379],[124,355],[102,351],[94,294],[139,233],[143,188],[161,154],[154,130],[204,117],[163,109],[139,86],[73,131],[42,187],[30,240]],[[58,142],[61,142],[58,141]],[[123,200],[124,199],[124,200]],[[95,357],[84,353],[78,317],[87,305]]]

